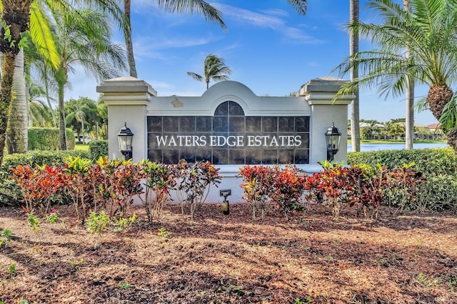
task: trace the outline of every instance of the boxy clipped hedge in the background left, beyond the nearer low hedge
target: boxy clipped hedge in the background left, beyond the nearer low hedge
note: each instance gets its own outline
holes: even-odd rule
[[[29,127],[29,150],[59,150],[59,129],[55,127]],[[66,129],[66,147],[74,149],[74,132]]]

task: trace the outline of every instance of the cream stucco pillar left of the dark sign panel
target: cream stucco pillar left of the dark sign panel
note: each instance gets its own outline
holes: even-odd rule
[[[108,105],[109,159],[122,158],[117,134],[124,123],[134,133],[132,152],[134,162],[147,158],[147,117],[146,107],[156,90],[134,77],[126,76],[104,80],[96,88],[101,100]]]

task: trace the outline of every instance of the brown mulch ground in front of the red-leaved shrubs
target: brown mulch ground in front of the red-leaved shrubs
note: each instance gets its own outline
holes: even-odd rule
[[[14,232],[0,246],[0,303],[457,303],[452,214],[383,209],[371,221],[344,210],[334,221],[313,206],[261,223],[245,204],[228,216],[207,204],[191,223],[169,205],[149,226],[141,206],[129,212],[131,229],[94,248],[72,209],[38,233],[21,209],[0,209],[0,231]]]

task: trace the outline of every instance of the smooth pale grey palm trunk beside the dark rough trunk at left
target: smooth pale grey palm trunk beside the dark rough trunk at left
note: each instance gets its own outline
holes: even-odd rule
[[[16,56],[13,76],[14,98],[11,100],[6,146],[8,153],[25,153],[28,147],[28,120],[26,80],[24,75],[24,51]]]

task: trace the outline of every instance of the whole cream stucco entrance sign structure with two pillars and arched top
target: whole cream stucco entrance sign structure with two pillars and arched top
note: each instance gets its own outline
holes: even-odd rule
[[[105,80],[97,92],[108,105],[110,158],[122,157],[116,137],[126,123],[134,132],[135,162],[206,159],[221,168],[223,177],[233,178],[244,164],[296,164],[316,172],[326,159],[324,134],[333,122],[342,133],[335,161],[346,160],[353,95],[332,101],[343,83],[317,78],[296,96],[266,97],[236,81],[222,81],[199,97],[162,97],[144,80],[122,77]],[[227,178],[221,187],[231,183],[238,188],[239,181]]]

